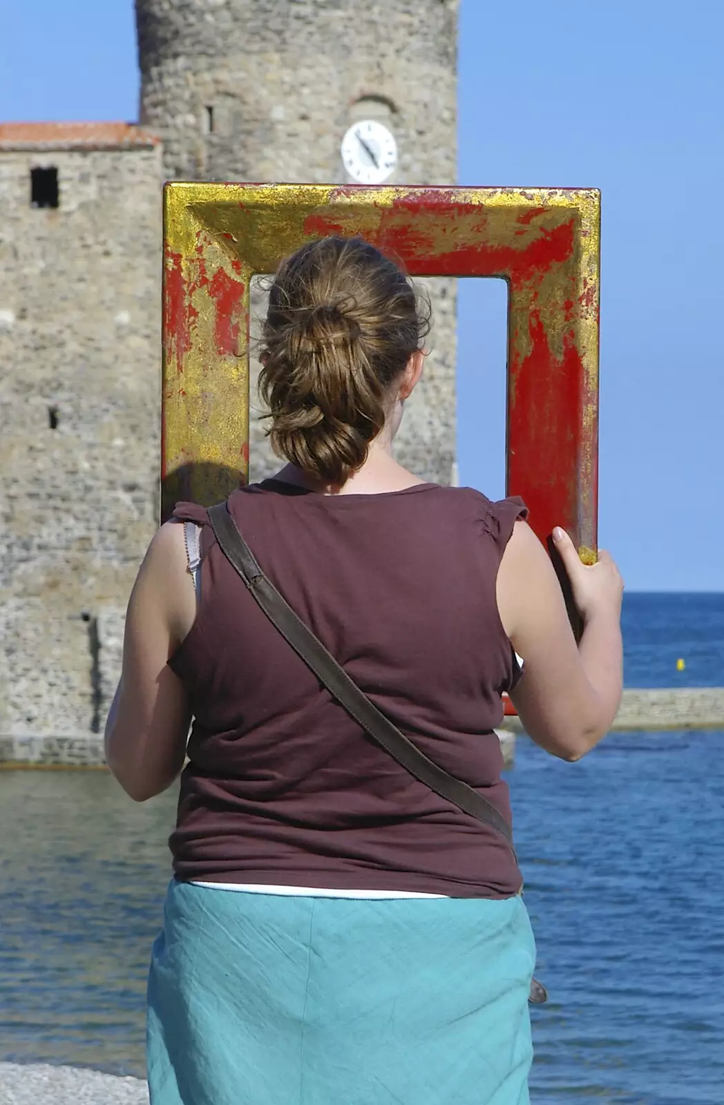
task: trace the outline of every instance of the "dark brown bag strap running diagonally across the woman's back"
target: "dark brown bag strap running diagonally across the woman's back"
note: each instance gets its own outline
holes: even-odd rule
[[[254,555],[239,533],[227,504],[219,503],[217,506],[209,507],[209,519],[219,548],[232,568],[241,576],[261,609],[347,713],[361,725],[373,740],[416,779],[440,794],[441,798],[445,798],[453,806],[499,832],[515,855],[511,829],[495,807],[481,798],[466,782],[438,767],[405,734],[400,733],[397,726],[380,713],[367,695],[359,690],[344,667],[337,663],[312,630],[292,610],[256,564]]]

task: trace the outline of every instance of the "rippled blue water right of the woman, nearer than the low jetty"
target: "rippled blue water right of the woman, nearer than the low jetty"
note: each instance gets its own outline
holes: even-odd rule
[[[538,977],[534,1103],[724,1102],[724,732],[616,734],[510,781]]]

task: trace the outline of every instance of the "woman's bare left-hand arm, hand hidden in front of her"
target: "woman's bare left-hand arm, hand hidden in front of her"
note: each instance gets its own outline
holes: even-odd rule
[[[166,662],[195,612],[183,527],[167,523],[130,594],[123,672],[105,728],[106,762],[138,802],[166,790],[183,766],[191,714],[183,684]]]

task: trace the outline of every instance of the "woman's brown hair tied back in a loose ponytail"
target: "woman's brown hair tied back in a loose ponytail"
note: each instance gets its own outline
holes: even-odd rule
[[[344,484],[365,462],[390,388],[429,329],[429,306],[360,238],[325,238],[283,261],[259,381],[274,452],[325,484]]]

